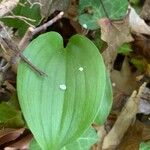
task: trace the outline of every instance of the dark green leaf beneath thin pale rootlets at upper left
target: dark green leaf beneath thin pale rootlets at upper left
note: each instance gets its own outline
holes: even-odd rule
[[[18,34],[20,36],[23,36],[29,27],[26,22],[30,23],[31,25],[37,26],[41,22],[42,16],[40,11],[40,5],[38,3],[33,3],[31,5],[26,0],[21,0],[20,3],[22,4],[17,5],[17,7],[13,10],[13,14],[16,16],[21,16],[22,19],[15,18],[14,16],[12,16],[13,18],[7,18],[6,16],[1,18],[1,21],[3,21],[4,24],[9,27],[17,29]],[[26,20],[23,19],[23,17],[32,20]],[[26,22],[23,20],[25,20]]]

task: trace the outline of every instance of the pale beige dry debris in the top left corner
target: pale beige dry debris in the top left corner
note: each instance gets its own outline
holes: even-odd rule
[[[17,6],[18,3],[19,0],[3,0],[0,3],[0,17],[9,13],[12,9],[14,9]]]

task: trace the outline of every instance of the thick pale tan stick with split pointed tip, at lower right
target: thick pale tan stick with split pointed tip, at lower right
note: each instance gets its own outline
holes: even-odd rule
[[[144,91],[146,83],[140,87],[139,92],[134,91],[130,98],[128,99],[126,105],[122,109],[117,121],[115,122],[113,128],[104,138],[102,149],[115,149],[120,143],[125,132],[131,125],[133,119],[135,119],[136,113],[138,111],[140,97]]]

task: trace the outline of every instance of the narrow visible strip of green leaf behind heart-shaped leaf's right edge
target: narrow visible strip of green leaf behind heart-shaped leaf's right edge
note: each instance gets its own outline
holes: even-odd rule
[[[101,105],[100,105],[100,111],[95,119],[95,123],[99,125],[103,125],[106,121],[111,107],[112,107],[112,100],[113,100],[113,92],[112,92],[112,86],[111,81],[109,79],[108,74],[106,73],[106,88],[105,88],[105,94],[102,99]]]

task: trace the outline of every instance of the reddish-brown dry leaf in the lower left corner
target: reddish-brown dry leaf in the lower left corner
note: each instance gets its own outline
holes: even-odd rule
[[[0,130],[0,145],[17,139],[24,132],[24,130],[25,130],[24,128],[21,129],[5,128],[3,130]]]

